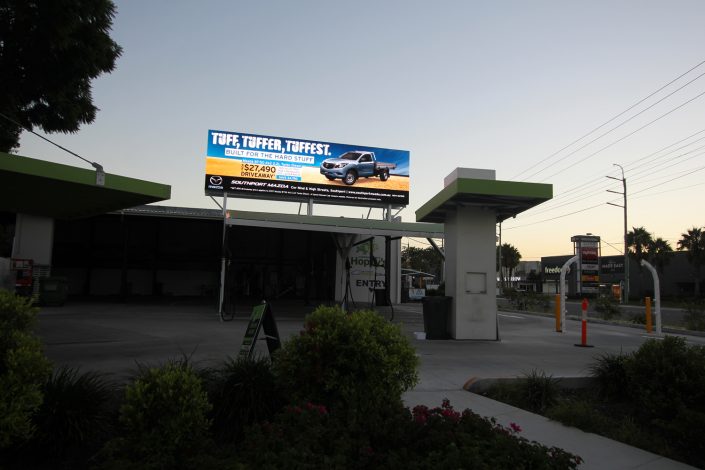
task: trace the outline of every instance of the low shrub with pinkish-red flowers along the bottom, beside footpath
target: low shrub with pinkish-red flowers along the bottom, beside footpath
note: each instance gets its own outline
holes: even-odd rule
[[[255,426],[242,446],[253,468],[572,469],[581,459],[518,436],[521,427],[436,408],[396,409],[384,435],[360,440],[320,405],[290,406]]]

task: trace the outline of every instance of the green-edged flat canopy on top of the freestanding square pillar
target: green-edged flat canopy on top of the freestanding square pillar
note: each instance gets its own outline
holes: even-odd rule
[[[502,222],[552,197],[550,184],[457,178],[416,211],[416,220],[443,223],[457,207],[477,206],[494,210]]]

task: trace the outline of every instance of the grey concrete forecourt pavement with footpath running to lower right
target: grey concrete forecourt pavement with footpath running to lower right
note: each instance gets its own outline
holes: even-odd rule
[[[300,304],[273,304],[282,339],[298,333],[310,310]],[[137,363],[158,364],[185,355],[212,365],[235,356],[247,325],[246,309],[240,311],[235,320],[220,322],[212,306],[201,304],[70,303],[43,308],[37,331],[55,364],[125,380]],[[389,313],[387,307],[384,314]],[[414,334],[423,331],[421,305],[397,305],[394,313],[421,359],[420,383],[404,396],[409,406],[438,406],[448,398],[457,409],[471,408],[505,425],[518,423],[525,437],[581,455],[583,469],[690,468],[463,390],[473,380],[512,378],[532,369],[554,377],[585,376],[596,355],[638,348],[648,338],[642,330],[589,324],[588,344],[594,347],[579,348],[574,346],[580,342],[578,322],[569,322],[563,334],[554,331],[551,318],[501,312],[500,341],[422,341]],[[687,339],[705,344],[703,337]],[[260,343],[258,351],[266,353]]]

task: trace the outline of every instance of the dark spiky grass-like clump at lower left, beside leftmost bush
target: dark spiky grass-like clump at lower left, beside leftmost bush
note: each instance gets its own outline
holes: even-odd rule
[[[65,461],[67,468],[85,465],[114,430],[114,388],[96,372],[60,368],[43,393],[32,419],[37,429],[29,445],[32,457],[54,464]]]

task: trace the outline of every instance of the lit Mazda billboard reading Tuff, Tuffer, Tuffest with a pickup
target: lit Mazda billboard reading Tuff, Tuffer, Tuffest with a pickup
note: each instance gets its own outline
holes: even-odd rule
[[[363,206],[409,204],[409,152],[208,131],[206,194]]]

